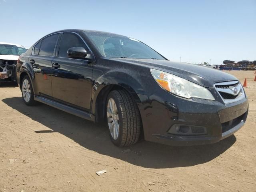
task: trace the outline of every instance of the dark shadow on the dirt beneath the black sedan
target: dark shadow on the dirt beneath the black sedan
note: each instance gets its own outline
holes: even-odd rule
[[[6,98],[2,102],[50,129],[35,130],[38,134],[59,132],[88,150],[145,168],[202,164],[216,158],[236,142],[232,135],[216,144],[202,146],[166,146],[140,140],[132,146],[118,148],[110,141],[108,128],[103,123],[96,124],[45,104],[29,107],[21,97]]]

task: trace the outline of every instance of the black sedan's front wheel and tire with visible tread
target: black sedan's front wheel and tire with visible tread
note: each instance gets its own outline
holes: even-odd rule
[[[112,101],[116,104],[117,114],[111,111],[110,104],[113,104]],[[112,116],[112,118],[110,116]],[[116,118],[113,116],[116,116]],[[130,146],[138,141],[141,129],[140,112],[136,102],[128,92],[124,90],[114,90],[108,94],[106,118],[110,139],[116,146]],[[118,122],[118,135],[114,135],[114,129],[117,125],[113,125],[113,122]],[[113,126],[112,129],[111,126]],[[111,132],[111,130],[113,130],[113,132]]]

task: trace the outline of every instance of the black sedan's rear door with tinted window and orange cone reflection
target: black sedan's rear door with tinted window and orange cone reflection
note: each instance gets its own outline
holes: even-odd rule
[[[36,95],[52,96],[51,63],[59,35],[60,33],[52,34],[40,40],[29,57],[35,75],[33,86]]]

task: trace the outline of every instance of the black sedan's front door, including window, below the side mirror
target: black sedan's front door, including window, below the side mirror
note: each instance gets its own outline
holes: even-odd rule
[[[88,54],[92,54],[78,34],[63,32],[58,52],[52,60],[52,96],[64,104],[89,110],[92,64],[86,59],[68,58],[67,51],[71,47],[84,47]]]

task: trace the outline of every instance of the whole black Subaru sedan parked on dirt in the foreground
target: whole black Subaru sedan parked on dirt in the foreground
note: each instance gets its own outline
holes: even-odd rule
[[[87,120],[106,121],[117,146],[145,140],[210,144],[239,130],[248,100],[234,76],[170,62],[139,40],[61,30],[19,57],[25,104],[42,102]]]

